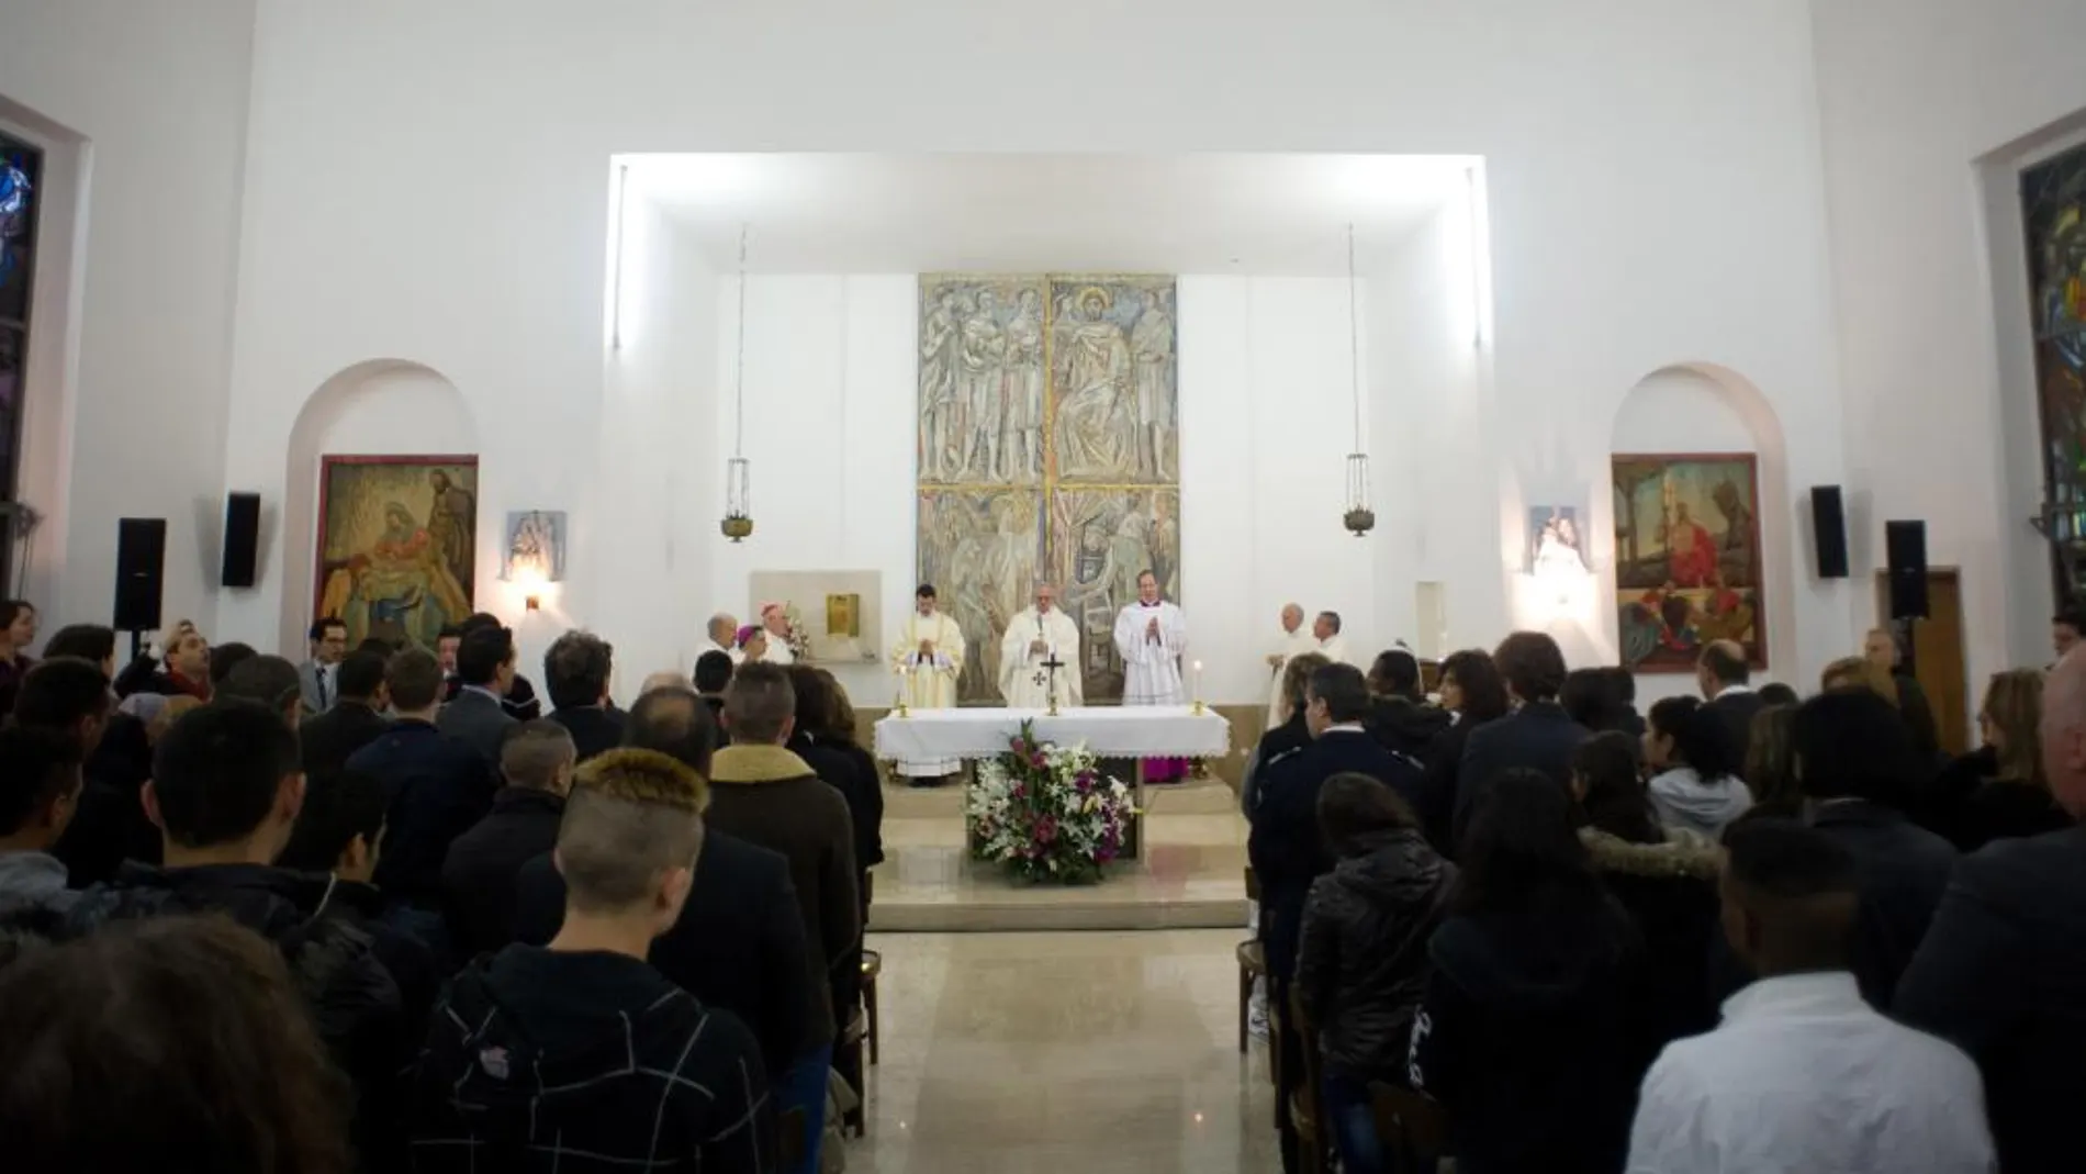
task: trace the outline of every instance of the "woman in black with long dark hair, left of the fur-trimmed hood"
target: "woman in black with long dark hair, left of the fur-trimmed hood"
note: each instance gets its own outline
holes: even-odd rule
[[[1571,824],[1550,776],[1496,776],[1429,947],[1410,1076],[1448,1109],[1460,1174],[1623,1168],[1635,932]]]

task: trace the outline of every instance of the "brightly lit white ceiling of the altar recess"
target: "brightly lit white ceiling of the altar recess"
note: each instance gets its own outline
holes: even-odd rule
[[[1473,156],[632,154],[711,263],[757,273],[1345,273],[1469,194]]]

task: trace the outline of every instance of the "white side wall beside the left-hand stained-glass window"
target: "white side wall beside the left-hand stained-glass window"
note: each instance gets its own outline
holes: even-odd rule
[[[119,517],[167,517],[167,615],[223,523],[254,0],[0,0],[0,121],[50,144],[21,494],[46,630],[108,621]],[[277,448],[280,457],[282,448]]]

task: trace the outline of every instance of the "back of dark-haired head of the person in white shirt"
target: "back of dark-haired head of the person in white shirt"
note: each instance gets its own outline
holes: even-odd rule
[[[1723,851],[1723,930],[1754,974],[1848,965],[1861,870],[1840,840],[1796,820],[1740,820]]]

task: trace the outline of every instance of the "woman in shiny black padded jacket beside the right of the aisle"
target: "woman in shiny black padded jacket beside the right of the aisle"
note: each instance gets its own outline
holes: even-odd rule
[[[1341,1168],[1377,1174],[1383,1153],[1368,1084],[1404,1084],[1412,1016],[1427,993],[1427,940],[1456,865],[1427,847],[1406,801],[1366,774],[1325,780],[1318,830],[1339,863],[1312,882],[1304,903],[1295,990],[1318,1024]]]

